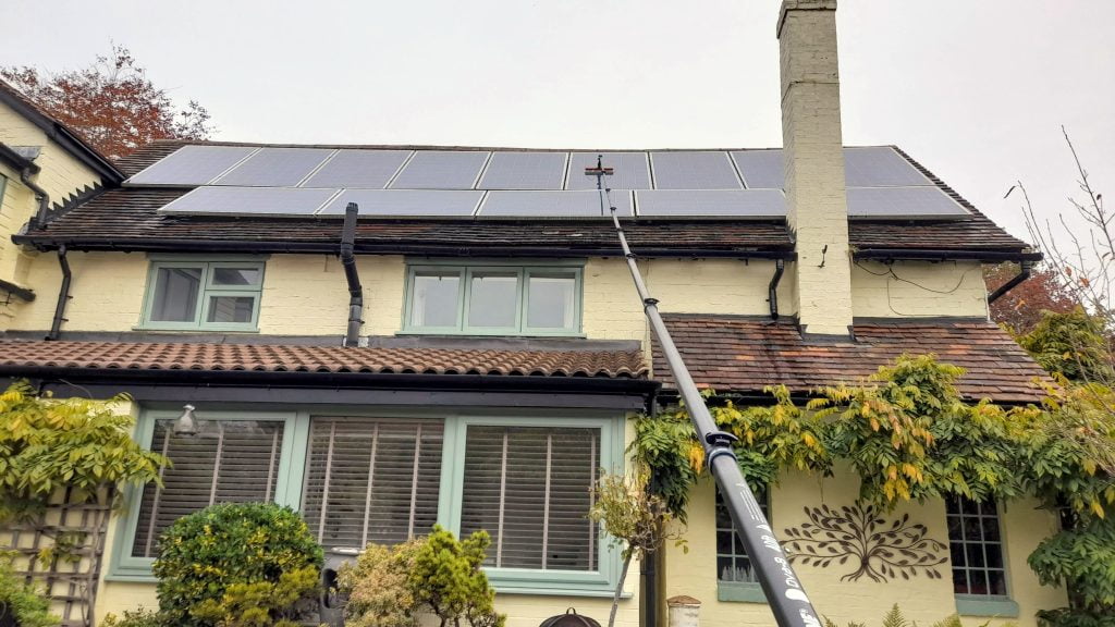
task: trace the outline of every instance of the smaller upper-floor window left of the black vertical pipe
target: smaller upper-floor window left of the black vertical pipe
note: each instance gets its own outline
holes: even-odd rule
[[[254,330],[262,286],[261,262],[156,261],[147,279],[143,326]]]

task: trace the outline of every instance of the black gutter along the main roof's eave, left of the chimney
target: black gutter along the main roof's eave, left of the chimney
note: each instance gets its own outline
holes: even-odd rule
[[[181,238],[51,238],[43,235],[12,235],[18,244],[29,244],[40,251],[56,250],[65,245],[80,251],[120,252],[258,252],[258,253],[323,253],[337,254],[337,244],[331,242],[292,242],[284,240],[187,240]],[[407,244],[356,242],[357,254],[416,254],[428,257],[492,257],[508,255],[524,258],[584,258],[623,257],[619,248],[540,248],[540,247],[493,247],[452,244]],[[639,249],[639,257],[658,258],[720,258],[720,259],[784,259],[792,261],[796,253],[788,245],[750,249]]]

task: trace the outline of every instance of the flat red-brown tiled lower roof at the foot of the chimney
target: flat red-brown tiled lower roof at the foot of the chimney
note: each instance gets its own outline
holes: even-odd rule
[[[998,326],[980,320],[856,321],[855,341],[809,343],[793,321],[739,316],[663,315],[694,379],[717,392],[794,392],[856,383],[902,354],[932,353],[964,368],[957,387],[968,398],[1001,403],[1040,399],[1034,379],[1046,373]],[[672,377],[656,343],[655,378]]]

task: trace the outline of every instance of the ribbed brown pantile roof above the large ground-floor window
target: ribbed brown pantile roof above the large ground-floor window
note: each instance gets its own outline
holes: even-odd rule
[[[0,370],[203,370],[646,378],[638,350],[456,350],[0,340]]]

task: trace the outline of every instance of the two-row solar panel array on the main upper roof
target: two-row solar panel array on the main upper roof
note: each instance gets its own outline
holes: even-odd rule
[[[752,219],[786,215],[783,152],[564,152],[187,145],[128,181],[197,187],[173,214],[579,219],[601,211],[603,185],[621,215]],[[952,220],[969,212],[889,146],[844,148],[849,215]]]

